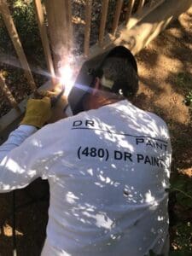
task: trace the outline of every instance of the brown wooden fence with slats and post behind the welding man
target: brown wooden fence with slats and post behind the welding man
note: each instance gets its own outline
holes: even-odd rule
[[[33,0],[36,9],[36,18],[38,20],[38,28],[40,37],[44,48],[44,56],[47,64],[52,84],[55,83],[55,73],[57,73],[57,63],[61,60],[62,55],[55,51],[57,45],[62,45],[66,52],[73,48],[73,15],[71,0],[44,0],[44,6],[41,0]],[[145,16],[150,14],[154,9],[159,7],[165,0],[117,0],[116,6],[113,9],[113,20],[111,31],[108,32],[106,26],[108,25],[108,6],[109,0],[102,1],[101,20],[96,44],[90,47],[90,33],[91,33],[91,19],[92,19],[92,5],[94,0],[84,0],[84,47],[82,55],[84,60],[90,59],[93,56],[100,55],[104,50],[108,49],[114,42],[118,42],[119,29],[131,30],[133,26]],[[185,1],[186,2],[186,1]],[[124,12],[124,16],[122,16]],[[37,90],[37,86],[32,77],[32,71],[27,62],[27,58],[20,43],[20,36],[16,30],[15,23],[9,11],[9,5],[6,0],[0,0],[0,14],[3,22],[9,32],[9,37],[15,47],[15,52],[20,61],[20,66],[23,68],[28,84],[30,84],[32,91]],[[48,26],[45,25],[44,15],[48,20]],[[23,112],[22,105],[18,104],[15,98],[11,95],[8,86],[5,84],[3,77],[0,76],[0,90],[3,90],[5,96],[11,106],[15,109],[15,117],[20,116]],[[13,121],[12,119],[12,121]],[[6,127],[6,122],[10,120],[5,119],[1,121],[0,131]]]

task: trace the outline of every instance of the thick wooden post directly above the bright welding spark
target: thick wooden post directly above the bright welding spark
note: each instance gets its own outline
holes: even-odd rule
[[[59,61],[68,55],[68,34],[66,22],[67,0],[45,0],[51,49],[54,56],[55,73],[59,75]]]

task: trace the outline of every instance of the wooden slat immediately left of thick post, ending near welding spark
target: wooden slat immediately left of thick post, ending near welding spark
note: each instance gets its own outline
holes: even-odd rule
[[[47,35],[47,30],[46,26],[44,24],[44,11],[42,7],[41,0],[34,0],[35,3],[35,9],[36,9],[36,14],[37,14],[37,19],[38,19],[38,29],[40,32],[43,48],[44,48],[44,55],[45,55],[45,60],[47,63],[47,67],[49,70],[49,73],[51,75],[51,80],[52,83],[55,83],[55,70],[53,66],[53,61],[51,57],[51,52],[49,48],[49,38]]]

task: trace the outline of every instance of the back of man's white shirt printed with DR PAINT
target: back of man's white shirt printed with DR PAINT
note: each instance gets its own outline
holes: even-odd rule
[[[46,148],[36,168],[50,185],[50,246],[66,255],[162,253],[171,144],[160,118],[121,101],[48,125],[35,144]]]

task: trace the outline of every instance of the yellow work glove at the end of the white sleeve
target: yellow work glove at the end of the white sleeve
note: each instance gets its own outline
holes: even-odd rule
[[[32,125],[41,128],[51,116],[50,98],[41,100],[29,99],[26,104],[26,114],[20,125]]]

